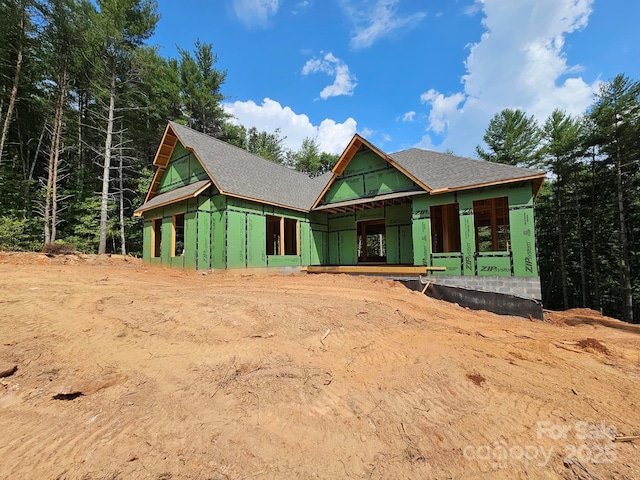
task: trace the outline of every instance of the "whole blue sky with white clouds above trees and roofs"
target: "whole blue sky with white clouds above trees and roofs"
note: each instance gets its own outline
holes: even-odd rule
[[[636,0],[158,0],[165,57],[213,44],[225,108],[341,153],[354,133],[387,153],[475,157],[489,119],[580,114],[602,81],[640,80]]]

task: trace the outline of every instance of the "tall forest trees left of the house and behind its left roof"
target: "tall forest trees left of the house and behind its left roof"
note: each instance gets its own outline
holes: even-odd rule
[[[213,46],[163,58],[155,0],[0,0],[0,249],[140,253],[167,121],[310,175],[337,160],[225,113]]]

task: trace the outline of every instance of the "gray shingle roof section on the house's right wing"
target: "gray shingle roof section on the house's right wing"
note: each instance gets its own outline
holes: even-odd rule
[[[473,160],[417,148],[392,153],[389,156],[432,190],[455,190],[538,177],[545,173],[543,170]]]

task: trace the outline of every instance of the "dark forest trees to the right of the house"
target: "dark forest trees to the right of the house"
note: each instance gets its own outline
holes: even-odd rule
[[[536,238],[544,305],[589,307],[627,321],[640,314],[640,83],[604,82],[580,116],[555,110],[539,124],[496,114],[484,160],[542,168]]]

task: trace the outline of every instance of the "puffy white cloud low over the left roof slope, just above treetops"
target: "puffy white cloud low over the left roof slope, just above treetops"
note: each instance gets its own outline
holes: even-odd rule
[[[302,141],[310,137],[318,142],[321,151],[341,154],[357,129],[353,118],[342,123],[327,118],[320,125],[313,125],[308,116],[295,113],[290,107],[283,107],[269,98],[265,98],[262,105],[252,100],[226,103],[224,109],[247,128],[255,127],[267,132],[279,128],[286,137],[284,145],[294,151],[299,150]]]

